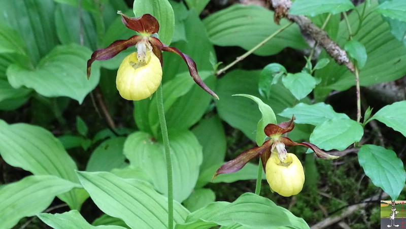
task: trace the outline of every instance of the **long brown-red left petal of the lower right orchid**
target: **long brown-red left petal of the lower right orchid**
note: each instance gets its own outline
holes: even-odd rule
[[[265,151],[269,151],[270,145],[272,145],[272,140],[264,142],[262,146],[257,146],[240,153],[237,157],[222,165],[214,174],[213,179],[220,174],[234,173],[241,170],[252,158]]]

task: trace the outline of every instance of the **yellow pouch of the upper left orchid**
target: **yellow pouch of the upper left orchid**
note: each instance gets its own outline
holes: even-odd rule
[[[116,85],[126,100],[143,100],[158,89],[162,80],[162,67],[158,57],[148,51],[145,63],[139,62],[137,52],[124,58],[117,71]]]

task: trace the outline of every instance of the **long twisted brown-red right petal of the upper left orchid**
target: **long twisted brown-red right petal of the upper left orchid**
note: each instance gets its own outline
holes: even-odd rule
[[[162,51],[167,51],[167,52],[174,52],[178,55],[180,55],[183,60],[186,62],[187,67],[189,68],[189,73],[190,76],[193,78],[194,82],[197,83],[203,90],[207,91],[209,94],[211,94],[213,97],[216,99],[219,99],[219,96],[217,96],[216,93],[214,93],[206,84],[203,82],[197,73],[197,68],[196,68],[196,63],[193,61],[192,58],[190,58],[188,55],[182,53],[179,49],[175,47],[169,47],[164,44],[162,44],[161,41],[159,41],[157,38],[150,37],[150,42],[152,45],[157,46],[160,50]]]

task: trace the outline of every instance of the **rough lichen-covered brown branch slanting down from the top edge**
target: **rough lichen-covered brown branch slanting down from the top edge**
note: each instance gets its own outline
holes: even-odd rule
[[[307,32],[318,42],[336,63],[344,64],[351,72],[355,71],[354,63],[348,58],[347,52],[331,40],[323,29],[313,24],[306,16],[289,14],[289,8],[292,5],[290,0],[271,0],[271,2],[275,11],[274,20],[276,23],[279,24],[279,20],[283,17],[295,22],[302,31]]]

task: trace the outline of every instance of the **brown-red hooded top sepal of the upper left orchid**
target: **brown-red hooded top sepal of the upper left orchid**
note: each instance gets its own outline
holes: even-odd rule
[[[159,30],[158,20],[156,20],[151,14],[144,14],[141,17],[128,17],[120,11],[117,13],[121,15],[121,21],[129,29],[149,35],[155,34],[155,32],[158,32]]]

